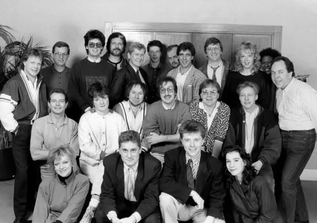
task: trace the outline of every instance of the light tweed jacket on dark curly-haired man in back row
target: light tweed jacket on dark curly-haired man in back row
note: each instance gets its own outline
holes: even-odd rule
[[[189,71],[185,83],[183,85],[183,102],[188,105],[199,100],[199,86],[205,79],[208,79],[203,72],[196,69],[194,65],[192,66],[193,67]],[[168,72],[167,76],[176,79],[178,69],[179,67],[171,70],[170,72]],[[179,100],[179,98],[176,99]]]

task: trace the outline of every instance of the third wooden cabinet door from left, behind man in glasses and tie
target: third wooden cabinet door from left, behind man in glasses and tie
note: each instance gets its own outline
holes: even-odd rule
[[[231,61],[232,52],[232,34],[219,34],[219,33],[194,33],[193,45],[195,46],[196,56],[194,58],[194,66],[199,69],[206,64],[208,58],[204,51],[205,42],[208,38],[215,37],[220,40],[223,51],[222,58]]]

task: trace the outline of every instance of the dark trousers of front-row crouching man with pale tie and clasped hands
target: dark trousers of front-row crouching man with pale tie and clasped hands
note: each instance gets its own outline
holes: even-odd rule
[[[101,207],[101,205],[99,205]],[[97,223],[111,223],[111,221],[107,218],[107,214],[102,208],[97,209],[95,219]],[[128,218],[130,217],[135,210],[138,208],[137,202],[132,202],[124,199],[122,202],[116,203],[117,216],[118,219]],[[142,219],[140,223],[161,223],[161,215],[159,209],[156,208],[155,211],[149,215],[148,217]]]

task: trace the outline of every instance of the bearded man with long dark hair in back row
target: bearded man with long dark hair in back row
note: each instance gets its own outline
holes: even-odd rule
[[[126,60],[122,56],[125,52],[127,41],[125,36],[120,32],[111,33],[106,44],[106,54],[103,56],[107,62],[114,66],[114,73],[127,65]]]

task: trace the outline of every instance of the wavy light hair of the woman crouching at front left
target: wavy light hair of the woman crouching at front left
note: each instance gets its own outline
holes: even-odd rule
[[[77,171],[77,162],[75,151],[68,145],[61,145],[50,150],[47,163],[51,173],[56,173],[54,168],[54,161],[59,160],[62,156],[67,155],[72,166],[73,172]]]

